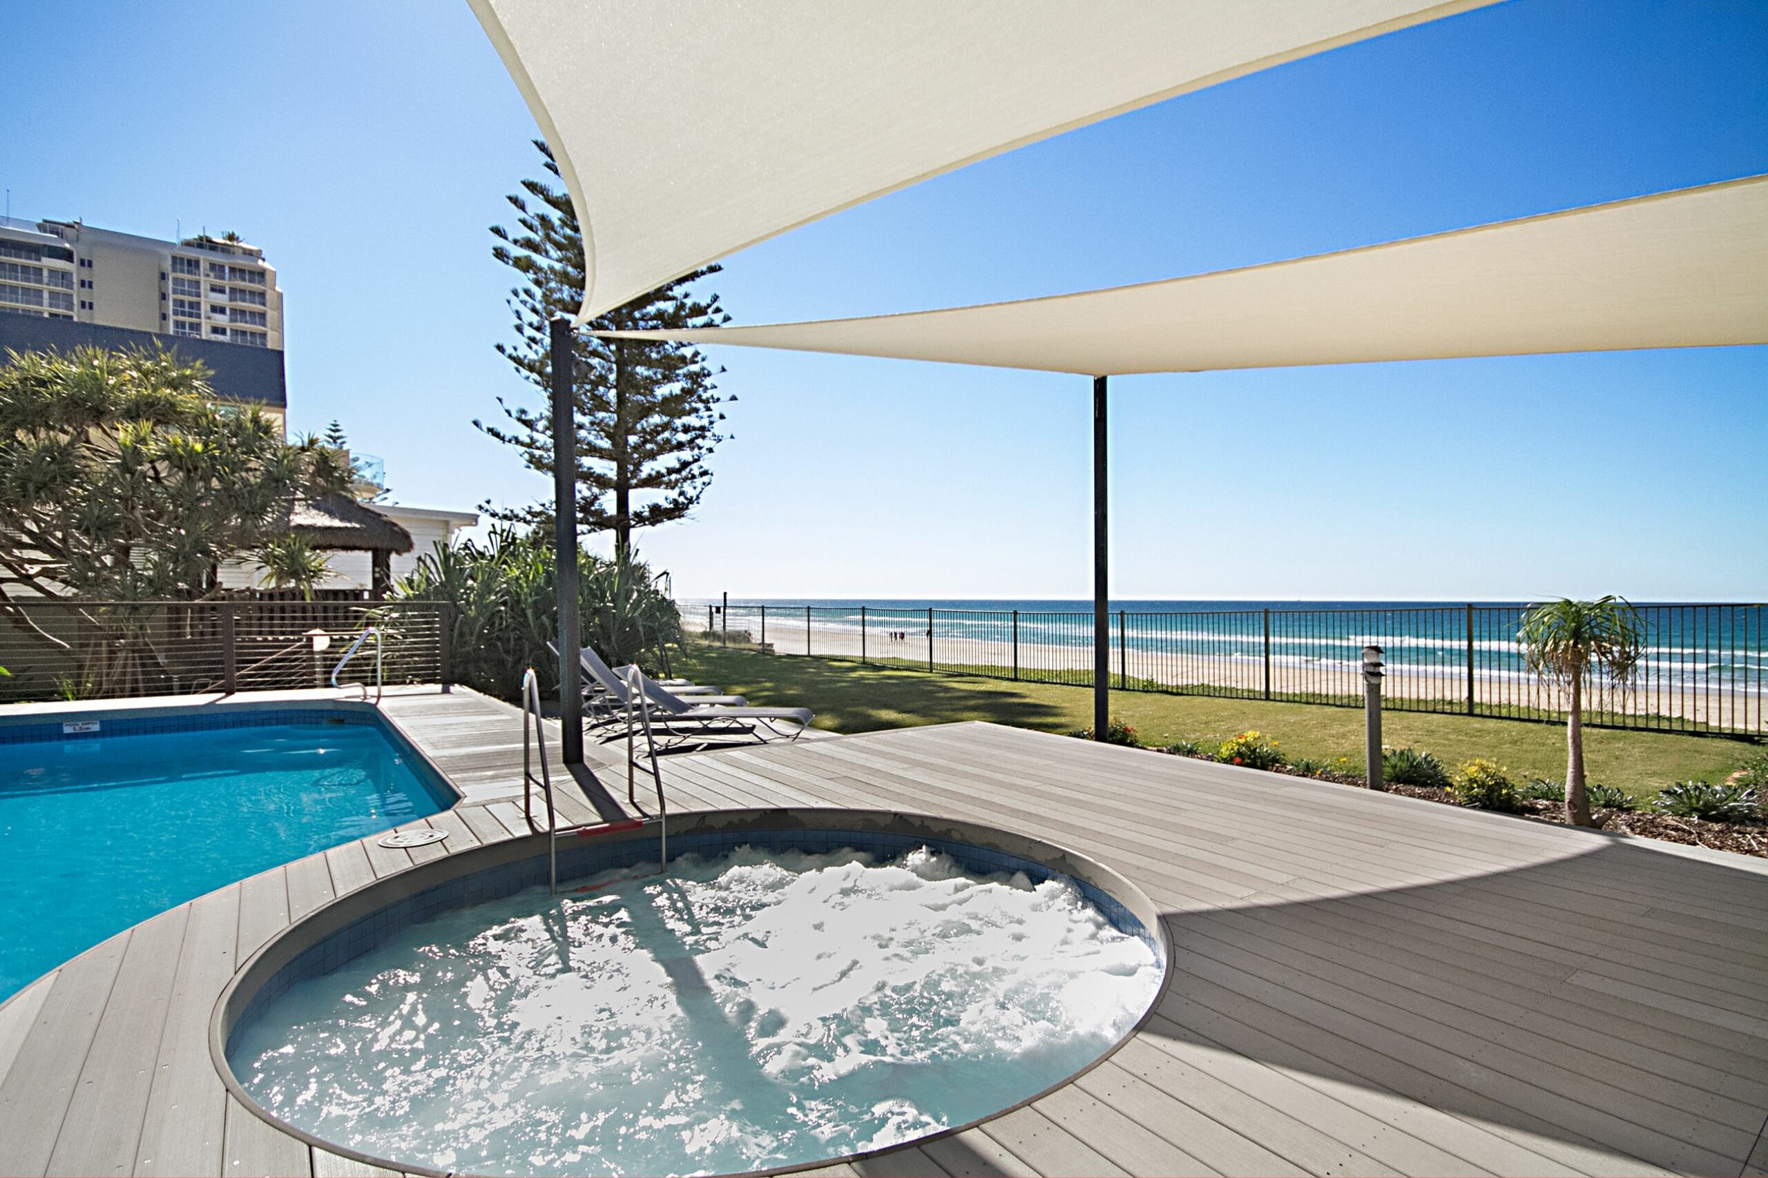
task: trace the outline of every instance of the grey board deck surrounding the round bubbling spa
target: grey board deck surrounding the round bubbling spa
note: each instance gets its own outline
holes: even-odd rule
[[[290,920],[523,830],[514,710],[472,692],[384,710],[467,795],[428,819],[451,837],[255,876],[0,1007],[0,1174],[371,1173],[233,1104],[207,1023]],[[1105,1063],[979,1129],[819,1173],[1768,1174],[1761,860],[990,724],[679,754],[665,779],[672,809],[1020,830],[1116,867],[1165,915],[1170,985]],[[596,816],[591,797],[566,807]]]

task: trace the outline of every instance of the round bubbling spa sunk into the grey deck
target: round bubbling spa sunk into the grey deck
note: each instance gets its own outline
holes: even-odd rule
[[[856,811],[670,818],[424,864],[272,941],[216,1008],[248,1104],[474,1174],[746,1173],[958,1129],[1147,1016],[1147,899],[1055,846]]]

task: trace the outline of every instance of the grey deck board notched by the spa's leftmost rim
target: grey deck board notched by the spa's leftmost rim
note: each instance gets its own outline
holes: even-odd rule
[[[239,885],[189,904],[175,996],[154,1063],[134,1173],[219,1174],[226,1090],[209,1060],[209,1012],[233,975]]]

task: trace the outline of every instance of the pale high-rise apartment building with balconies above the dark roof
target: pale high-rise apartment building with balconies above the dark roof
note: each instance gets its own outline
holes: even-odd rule
[[[283,291],[233,237],[154,237],[80,221],[0,219],[0,313],[283,348]]]

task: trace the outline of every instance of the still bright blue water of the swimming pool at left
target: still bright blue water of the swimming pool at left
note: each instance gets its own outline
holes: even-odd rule
[[[401,740],[341,717],[0,744],[0,1000],[173,904],[451,800]]]

